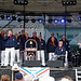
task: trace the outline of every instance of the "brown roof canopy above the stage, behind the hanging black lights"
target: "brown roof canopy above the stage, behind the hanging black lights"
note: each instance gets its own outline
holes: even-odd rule
[[[62,0],[28,0],[25,5],[27,12],[65,12]],[[24,11],[24,5],[15,5],[14,0],[0,0],[0,11]],[[67,6],[68,12],[81,11],[81,0],[77,5]]]

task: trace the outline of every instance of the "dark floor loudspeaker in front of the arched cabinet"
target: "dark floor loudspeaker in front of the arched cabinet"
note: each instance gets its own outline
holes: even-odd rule
[[[40,67],[40,60],[25,60],[25,67]]]

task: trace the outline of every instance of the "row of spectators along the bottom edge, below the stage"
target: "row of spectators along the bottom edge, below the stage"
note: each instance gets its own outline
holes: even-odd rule
[[[3,75],[1,76],[1,81],[11,81],[11,79],[8,75]],[[21,72],[17,72],[15,73],[14,81],[55,81],[55,79],[53,77],[42,77],[32,80],[30,76],[26,75],[24,77]],[[58,81],[72,81],[72,79],[68,76],[65,76],[64,78],[60,78]]]

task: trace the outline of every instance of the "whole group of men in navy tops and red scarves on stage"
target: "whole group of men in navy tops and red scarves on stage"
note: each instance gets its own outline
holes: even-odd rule
[[[54,33],[51,33],[48,42],[42,39],[42,36],[37,37],[37,32],[32,32],[32,37],[29,37],[28,33],[22,30],[22,35],[13,35],[12,30],[9,30],[8,33],[4,30],[1,30],[0,35],[0,51],[1,51],[1,66],[13,66],[15,62],[15,56],[17,57],[17,63],[22,60],[24,63],[24,51],[25,42],[29,39],[33,39],[38,44],[37,59],[42,59],[42,65],[45,65],[44,52],[49,54],[49,60],[54,60],[54,55],[65,55],[68,51],[69,42],[66,39],[66,36],[63,35],[62,39],[58,41]],[[33,41],[29,41],[26,44],[26,48],[36,48]],[[11,54],[11,58],[10,55]]]

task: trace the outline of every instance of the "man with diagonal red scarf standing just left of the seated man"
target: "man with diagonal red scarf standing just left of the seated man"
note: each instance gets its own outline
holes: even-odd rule
[[[55,49],[56,49],[55,38],[52,37],[51,41],[48,43],[49,60],[54,59]]]

